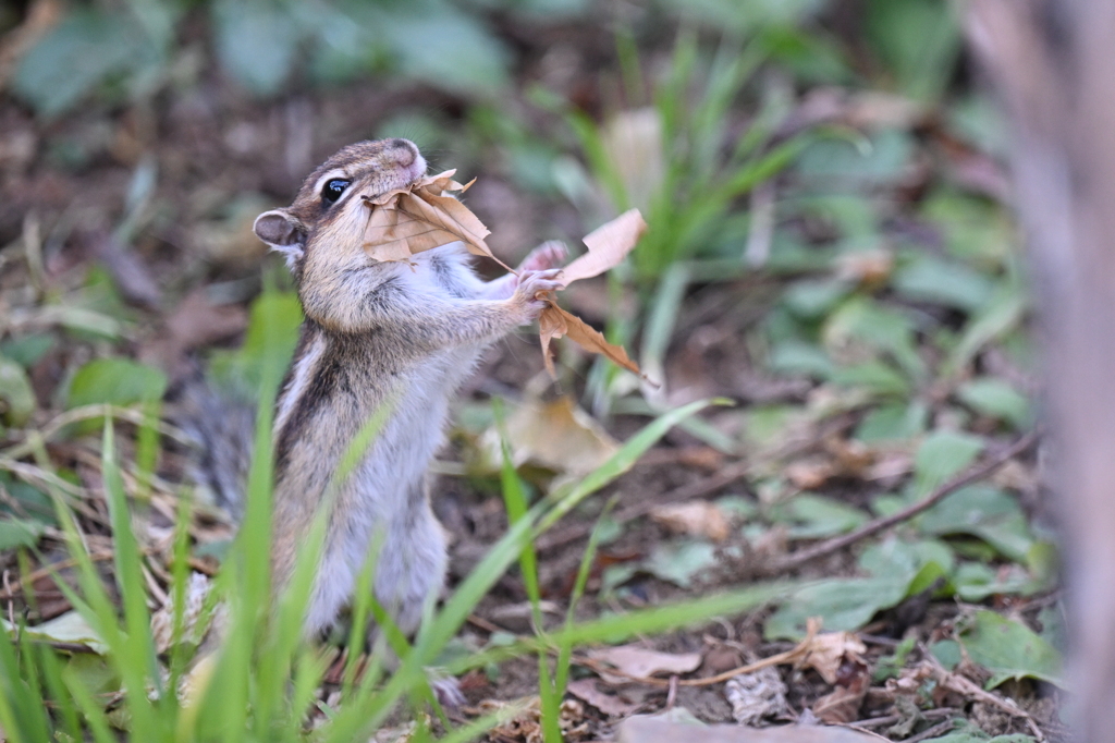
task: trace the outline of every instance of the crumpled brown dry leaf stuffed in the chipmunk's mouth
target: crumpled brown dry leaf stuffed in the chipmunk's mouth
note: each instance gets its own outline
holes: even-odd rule
[[[443,195],[446,191],[464,193],[474,183],[462,185],[453,180],[454,173],[445,171],[367,200],[370,213],[363,249],[368,255],[377,261],[408,261],[416,253],[459,240],[471,253],[507,268],[484,242],[491,234],[484,223],[459,201]]]

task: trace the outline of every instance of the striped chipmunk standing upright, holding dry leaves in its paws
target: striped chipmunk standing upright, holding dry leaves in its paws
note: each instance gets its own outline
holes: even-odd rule
[[[309,636],[332,625],[353,592],[365,590],[356,580],[377,532],[382,544],[375,596],[404,633],[418,628],[446,571],[428,470],[444,443],[449,401],[484,348],[537,318],[544,303],[535,296],[561,288],[561,243],[533,251],[517,276],[491,282],[476,277],[460,243],[418,253],[409,263],[369,258],[362,248],[366,201],[425,173],[426,161],[407,139],[360,142],[314,170],[290,206],[254,223],[255,234],[285,257],[306,316],[274,414],[271,557],[279,589],[293,573],[342,455],[388,406],[369,448],[330,495]],[[221,448],[214,438],[226,433],[201,438],[209,440],[211,463],[240,472],[210,477],[219,500],[236,512],[248,457]]]

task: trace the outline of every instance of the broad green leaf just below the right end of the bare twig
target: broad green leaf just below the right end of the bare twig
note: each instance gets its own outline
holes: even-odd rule
[[[1018,500],[990,485],[968,485],[921,514],[928,534],[979,537],[1011,560],[1026,563],[1034,535]]]

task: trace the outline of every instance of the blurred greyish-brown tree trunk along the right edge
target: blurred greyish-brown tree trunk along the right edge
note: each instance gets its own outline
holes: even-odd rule
[[[1115,3],[973,0],[1046,330],[1079,740],[1115,731]]]

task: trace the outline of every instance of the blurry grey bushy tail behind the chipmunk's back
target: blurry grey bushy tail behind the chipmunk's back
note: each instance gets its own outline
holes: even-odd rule
[[[255,403],[211,387],[201,375],[184,382],[169,402],[171,421],[191,440],[188,474],[198,495],[240,523],[255,440]]]

